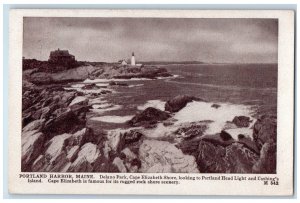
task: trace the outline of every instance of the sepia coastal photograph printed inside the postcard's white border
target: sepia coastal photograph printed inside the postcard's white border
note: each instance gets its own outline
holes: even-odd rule
[[[277,19],[24,17],[22,172],[276,173]]]

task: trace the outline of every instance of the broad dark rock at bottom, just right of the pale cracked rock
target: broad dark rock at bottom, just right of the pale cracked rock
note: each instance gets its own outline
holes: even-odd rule
[[[221,146],[200,141],[197,163],[201,173],[251,173],[258,155],[242,144]]]

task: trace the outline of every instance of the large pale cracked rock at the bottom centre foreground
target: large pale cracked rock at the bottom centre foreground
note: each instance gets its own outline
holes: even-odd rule
[[[195,157],[166,141],[144,140],[139,148],[140,172],[198,173]]]

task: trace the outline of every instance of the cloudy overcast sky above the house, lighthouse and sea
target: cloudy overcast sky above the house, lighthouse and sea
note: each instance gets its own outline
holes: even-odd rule
[[[23,56],[77,60],[276,63],[275,19],[24,18]]]

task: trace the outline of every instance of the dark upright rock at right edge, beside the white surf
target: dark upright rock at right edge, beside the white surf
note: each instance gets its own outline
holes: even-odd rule
[[[253,140],[259,149],[266,142],[274,142],[277,140],[277,120],[272,116],[262,116],[254,124]]]

